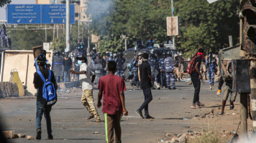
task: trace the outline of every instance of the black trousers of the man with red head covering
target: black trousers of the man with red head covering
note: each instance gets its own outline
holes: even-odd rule
[[[193,83],[193,87],[195,88],[195,92],[193,94],[193,104],[195,104],[196,102],[199,102],[199,93],[200,93],[200,87],[201,87],[201,81],[199,79],[199,74],[194,71],[191,74],[191,80]]]

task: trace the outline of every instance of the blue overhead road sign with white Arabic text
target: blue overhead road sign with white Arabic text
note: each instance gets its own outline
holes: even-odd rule
[[[7,24],[65,24],[65,4],[8,4]],[[70,4],[70,24],[75,24],[75,5]]]

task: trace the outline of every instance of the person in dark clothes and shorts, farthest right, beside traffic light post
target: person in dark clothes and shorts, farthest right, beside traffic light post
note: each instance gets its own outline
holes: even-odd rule
[[[237,97],[237,92],[232,92],[232,63],[229,63],[227,73],[229,74],[226,79],[224,79],[224,82],[226,82],[226,88],[225,88],[225,95],[222,99],[222,104],[221,104],[221,112],[219,114],[224,114],[224,108],[227,102],[227,99],[229,98],[229,94],[231,94],[230,97],[230,108],[229,109],[234,109],[234,101],[236,100]]]

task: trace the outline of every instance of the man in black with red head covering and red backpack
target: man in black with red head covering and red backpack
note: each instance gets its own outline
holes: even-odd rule
[[[204,59],[204,49],[203,48],[198,49],[196,56],[197,57],[194,62],[195,70],[191,73],[191,80],[193,83],[193,87],[195,88],[195,92],[193,95],[193,104],[191,105],[192,109],[204,106],[204,104],[201,104],[199,102],[199,92],[200,92],[200,86],[201,86],[200,80],[203,79],[199,69],[201,66],[201,61],[202,59]]]

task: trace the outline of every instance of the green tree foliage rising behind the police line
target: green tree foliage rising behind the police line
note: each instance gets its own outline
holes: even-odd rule
[[[225,0],[209,4],[206,0],[173,0],[174,16],[179,17],[180,34],[175,38],[179,51],[191,56],[198,47],[217,52],[228,46],[228,36],[234,45],[239,36],[239,1]],[[152,36],[156,43],[170,39],[166,36],[166,17],[171,16],[170,0],[89,0],[92,30],[101,36],[99,49],[118,50],[120,35],[129,36],[128,44],[134,46],[136,39]],[[119,43],[119,42],[117,42]],[[209,47],[209,48],[208,48]]]

